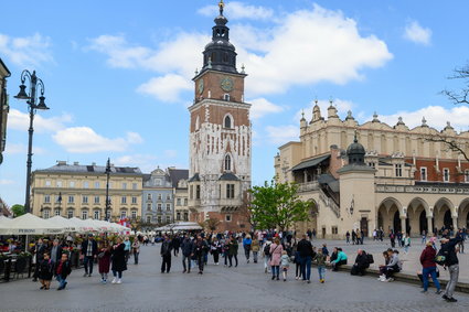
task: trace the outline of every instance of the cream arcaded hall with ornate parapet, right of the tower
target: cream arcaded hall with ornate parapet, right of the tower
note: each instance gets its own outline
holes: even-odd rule
[[[275,172],[279,182],[296,182],[311,201],[310,220],[298,230],[320,237],[343,237],[348,230],[405,230],[469,226],[469,163],[440,139],[469,154],[469,132],[447,122],[438,131],[427,125],[408,128],[379,120],[360,125],[349,111],[341,120],[330,105],[327,118],[318,105],[312,119],[300,120],[299,141],[279,148]]]

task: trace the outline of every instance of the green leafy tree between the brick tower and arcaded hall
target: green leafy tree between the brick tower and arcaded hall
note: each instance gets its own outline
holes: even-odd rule
[[[285,230],[297,222],[308,220],[312,203],[301,201],[297,191],[296,184],[274,181],[254,186],[249,191],[253,194],[249,211],[257,227]]]

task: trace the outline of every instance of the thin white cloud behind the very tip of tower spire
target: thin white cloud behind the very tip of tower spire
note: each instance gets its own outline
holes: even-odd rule
[[[231,20],[267,20],[274,15],[274,10],[269,8],[249,6],[238,1],[231,1],[226,3],[225,12]],[[218,6],[205,6],[199,9],[198,13],[205,17],[215,17],[218,14]]]

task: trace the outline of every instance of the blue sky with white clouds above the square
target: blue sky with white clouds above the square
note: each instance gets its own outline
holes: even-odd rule
[[[428,0],[225,1],[237,64],[253,104],[253,184],[274,176],[278,147],[298,140],[317,99],[363,123],[446,121],[468,130],[469,108],[440,94],[468,64],[469,2]],[[196,68],[211,41],[216,0],[3,1],[0,57],[10,115],[0,197],[24,202],[26,104],[23,69],[45,85],[34,119],[33,170],[83,164],[189,168],[189,112]],[[21,17],[19,15],[21,13]],[[239,69],[239,68],[238,68]]]

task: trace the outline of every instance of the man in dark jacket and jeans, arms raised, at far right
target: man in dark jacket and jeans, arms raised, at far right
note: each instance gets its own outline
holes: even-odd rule
[[[456,245],[459,244],[459,241],[462,238],[457,236],[456,238],[444,238],[441,239],[441,249],[446,252],[446,263],[445,267],[448,268],[449,272],[449,281],[446,286],[445,294],[443,295],[443,299],[445,299],[448,302],[456,302],[457,300],[452,297],[452,293],[455,292],[456,284],[458,283],[459,278],[459,260],[458,256],[456,254]]]

